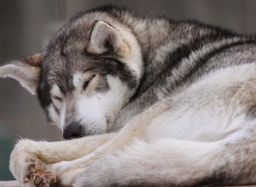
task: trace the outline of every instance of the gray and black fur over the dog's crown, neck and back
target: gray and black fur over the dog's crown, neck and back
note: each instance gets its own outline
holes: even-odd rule
[[[91,34],[90,28],[97,20],[120,22],[129,27],[139,41],[144,59],[145,69],[139,89],[116,118],[112,127],[114,131],[145,108],[188,87],[209,72],[255,60],[254,37],[240,36],[195,21],[144,18],[124,9],[104,7],[102,11],[100,8],[79,14],[56,34],[47,47],[47,55],[42,63],[42,74],[47,71],[48,78],[42,76],[41,82],[50,79],[51,82],[58,82],[67,92],[72,89],[72,83],[69,82],[72,72],[76,69],[86,70],[93,65],[92,62],[97,61],[97,58],[84,54]],[[198,57],[193,59],[195,52]],[[238,58],[238,53],[244,57]],[[156,56],[160,59],[156,59]],[[200,62],[205,57],[208,59]],[[222,57],[229,60],[223,60]],[[100,67],[97,65],[96,69]],[[104,71],[108,68],[104,67]],[[126,76],[124,81],[131,80]]]

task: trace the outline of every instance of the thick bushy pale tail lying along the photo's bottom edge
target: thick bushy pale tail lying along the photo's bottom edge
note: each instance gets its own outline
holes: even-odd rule
[[[77,186],[249,185],[256,182],[256,140],[242,137],[215,142],[137,140],[93,163],[88,170],[97,169],[95,175],[81,176]]]

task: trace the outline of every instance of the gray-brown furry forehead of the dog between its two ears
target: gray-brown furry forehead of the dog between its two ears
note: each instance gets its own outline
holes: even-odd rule
[[[64,26],[46,47],[42,68],[50,69],[51,72],[61,71],[66,75],[77,69],[83,70],[90,65],[94,59],[86,54],[86,47],[92,26],[92,23],[89,24],[86,21],[81,21],[79,24],[71,21]]]

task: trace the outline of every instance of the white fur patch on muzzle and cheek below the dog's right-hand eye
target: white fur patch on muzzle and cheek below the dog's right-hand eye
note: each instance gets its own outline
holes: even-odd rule
[[[110,90],[92,95],[76,92],[76,118],[85,124],[87,132],[104,133],[109,130],[117,112],[132,95],[117,77],[107,76]]]

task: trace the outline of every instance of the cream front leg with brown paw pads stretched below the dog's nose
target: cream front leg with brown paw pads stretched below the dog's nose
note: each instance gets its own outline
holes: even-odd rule
[[[47,164],[80,158],[114,136],[111,133],[56,142],[21,140],[11,153],[10,170],[22,186],[52,186],[56,175],[47,170]]]

